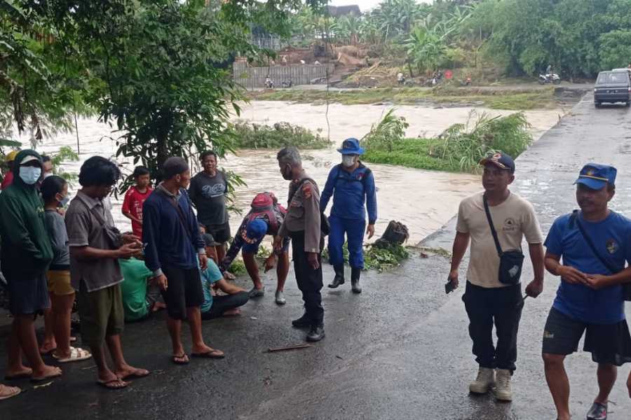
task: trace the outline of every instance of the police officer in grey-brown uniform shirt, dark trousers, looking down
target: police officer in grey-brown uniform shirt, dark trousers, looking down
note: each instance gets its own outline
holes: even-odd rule
[[[320,232],[320,191],[302,168],[298,149],[289,146],[277,155],[280,174],[292,181],[289,188],[287,215],[274,238],[276,252],[283,250],[283,238],[292,238],[294,274],[304,300],[304,314],[292,321],[296,328],[309,328],[307,341],[325,337],[322,307],[321,255],[324,238]]]

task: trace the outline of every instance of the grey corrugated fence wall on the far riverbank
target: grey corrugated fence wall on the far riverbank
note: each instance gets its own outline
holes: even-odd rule
[[[245,62],[233,64],[233,76],[236,83],[247,89],[264,87],[265,78],[269,76],[276,87],[283,83],[292,82],[292,85],[309,85],[312,80],[327,77],[333,73],[334,64],[295,64],[288,66],[248,67]]]

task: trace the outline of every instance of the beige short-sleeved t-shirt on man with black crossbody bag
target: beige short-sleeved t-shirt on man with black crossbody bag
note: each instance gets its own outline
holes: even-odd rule
[[[484,212],[483,195],[477,193],[462,200],[458,209],[456,230],[471,238],[467,280],[485,288],[506,287],[498,279],[499,256]],[[490,206],[489,211],[502,251],[521,249],[524,236],[529,244],[543,243],[534,208],[519,195],[510,193],[506,201]]]

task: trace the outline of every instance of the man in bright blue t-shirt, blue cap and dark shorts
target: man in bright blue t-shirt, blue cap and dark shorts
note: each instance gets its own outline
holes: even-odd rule
[[[578,350],[585,331],[583,351],[598,363],[599,385],[588,420],[607,418],[616,366],[631,361],[622,289],[631,281],[631,269],[625,268],[631,261],[631,221],[608,208],[615,191],[616,168],[585,165],[576,180],[581,211],[557,218],[545,240],[545,267],[561,277],[543,332],[545,378],[559,420],[570,419],[564,359]]]

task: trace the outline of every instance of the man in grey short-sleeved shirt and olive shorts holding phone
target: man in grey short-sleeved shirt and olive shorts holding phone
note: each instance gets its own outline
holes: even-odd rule
[[[108,389],[125,388],[126,379],[149,374],[128,365],[121,346],[123,276],[118,258],[140,255],[142,244],[114,227],[107,196],[120,176],[118,166],[110,160],[101,156],[86,160],[79,172],[81,190],[66,212],[70,279],[77,292],[81,339],[90,346],[97,365],[97,384]],[[114,361],[114,372],[107,366],[104,344]]]

